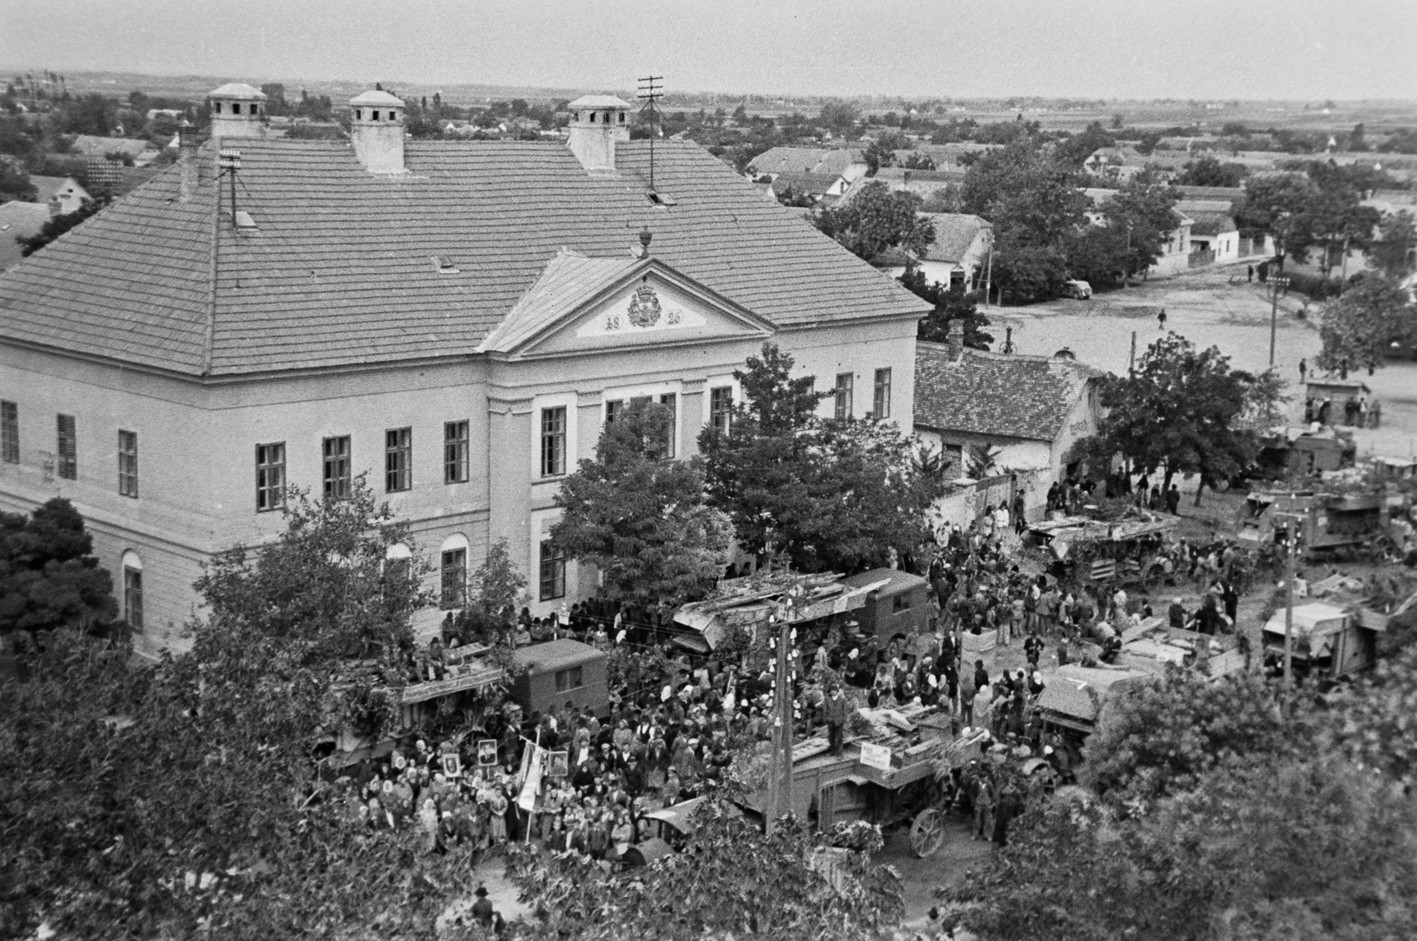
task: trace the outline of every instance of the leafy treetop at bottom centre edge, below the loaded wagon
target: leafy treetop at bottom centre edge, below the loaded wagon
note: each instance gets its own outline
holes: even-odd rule
[[[537,906],[529,937],[866,941],[900,917],[893,870],[864,852],[825,849],[799,822],[784,821],[765,836],[711,796],[694,825],[683,852],[648,869],[604,872],[577,853],[514,847],[509,872],[521,898]],[[836,855],[839,889],[809,862],[822,853]]]

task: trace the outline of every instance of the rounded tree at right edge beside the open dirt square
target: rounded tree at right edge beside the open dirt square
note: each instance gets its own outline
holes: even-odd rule
[[[1319,368],[1377,368],[1394,343],[1417,336],[1417,306],[1397,281],[1365,274],[1319,315]]]

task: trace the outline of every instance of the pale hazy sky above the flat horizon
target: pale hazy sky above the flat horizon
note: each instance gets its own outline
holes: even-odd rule
[[[0,68],[765,95],[1417,99],[1417,0],[0,0]]]

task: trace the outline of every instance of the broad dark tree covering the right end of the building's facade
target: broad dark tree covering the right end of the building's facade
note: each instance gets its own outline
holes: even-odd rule
[[[934,496],[908,439],[888,422],[815,417],[830,393],[792,378],[792,357],[764,344],[734,373],[744,402],[728,434],[706,429],[708,500],[733,519],[738,543],[782,553],[799,571],[856,571],[914,550]]]

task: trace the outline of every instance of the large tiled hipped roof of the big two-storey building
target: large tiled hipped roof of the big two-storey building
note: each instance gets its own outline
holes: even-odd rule
[[[191,201],[167,167],[0,276],[0,340],[191,376],[462,357],[563,247],[625,257],[646,227],[656,258],[777,327],[928,309],[693,143],[655,145],[669,208],[646,197],[649,142],[618,145],[614,176],[557,142],[410,140],[398,176],[347,140],[239,150],[255,230],[214,234],[230,196],[204,145]]]

